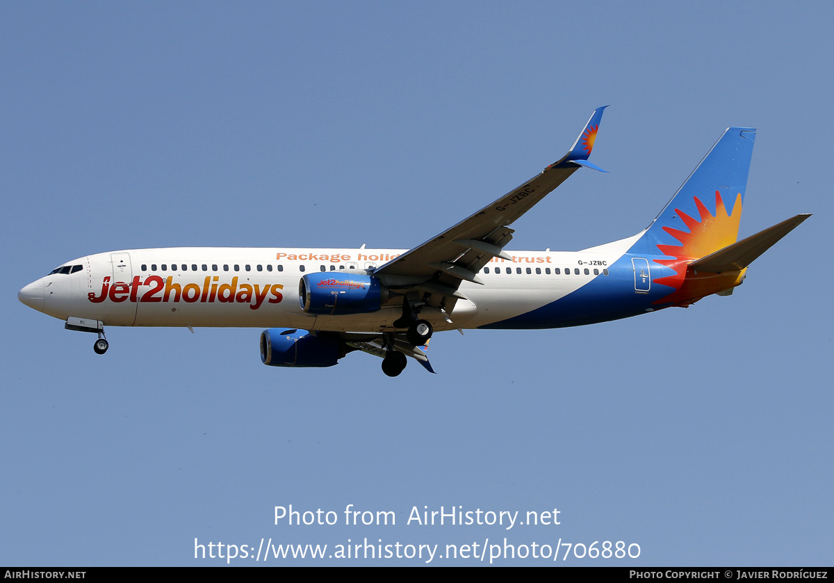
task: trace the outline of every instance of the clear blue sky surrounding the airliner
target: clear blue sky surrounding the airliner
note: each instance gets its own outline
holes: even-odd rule
[[[0,564],[506,537],[641,546],[570,565],[831,565],[831,10],[3,3]],[[559,158],[604,104],[610,174],[575,174],[512,249],[640,231],[730,125],[758,129],[741,235],[815,215],[731,297],[440,334],[436,376],[389,379],[364,354],[264,367],[260,329],[110,328],[99,357],[17,300],[102,251],[414,246]],[[342,520],[274,525],[289,504]],[[347,504],[397,524],[344,526]],[[405,525],[458,505],[561,524]]]

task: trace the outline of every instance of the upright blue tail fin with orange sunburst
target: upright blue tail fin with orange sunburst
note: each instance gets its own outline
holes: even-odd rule
[[[755,139],[726,129],[631,252],[700,259],[736,242]]]

